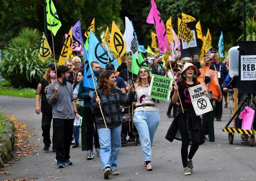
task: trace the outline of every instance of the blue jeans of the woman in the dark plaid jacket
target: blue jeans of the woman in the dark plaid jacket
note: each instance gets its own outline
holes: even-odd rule
[[[121,128],[121,124],[115,128],[108,128],[108,131],[106,128],[98,128],[102,170],[106,167],[117,169],[117,156],[121,147]]]

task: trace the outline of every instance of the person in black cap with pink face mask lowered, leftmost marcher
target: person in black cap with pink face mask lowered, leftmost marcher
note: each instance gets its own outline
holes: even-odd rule
[[[52,122],[52,105],[49,105],[47,102],[47,89],[50,83],[56,80],[55,74],[55,64],[51,63],[48,65],[48,69],[46,70],[43,78],[39,81],[36,90],[36,114],[40,114],[42,112],[42,130],[44,137],[44,151],[48,151],[51,144],[50,139],[50,128]],[[41,100],[41,107],[39,105],[40,96],[42,95]],[[52,135],[52,152],[56,152],[55,145],[54,145],[54,132]]]

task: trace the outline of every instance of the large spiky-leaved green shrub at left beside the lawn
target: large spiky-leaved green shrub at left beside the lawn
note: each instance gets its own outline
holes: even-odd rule
[[[0,61],[1,76],[9,80],[13,87],[35,88],[44,76],[48,58],[44,63],[38,58],[42,34],[37,29],[23,28],[18,37],[10,40]]]

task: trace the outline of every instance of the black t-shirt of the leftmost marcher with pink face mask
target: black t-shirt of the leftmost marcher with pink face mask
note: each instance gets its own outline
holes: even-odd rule
[[[42,84],[41,87],[41,95],[42,95],[42,99],[41,99],[41,112],[52,112],[52,105],[49,105],[47,102],[47,89],[49,86],[49,83],[43,78],[39,81],[39,83]]]

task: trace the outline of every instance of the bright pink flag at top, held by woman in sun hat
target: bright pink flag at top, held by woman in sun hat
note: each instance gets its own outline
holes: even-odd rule
[[[155,25],[156,37],[159,42],[158,44],[159,45],[161,44],[162,47],[166,46],[167,49],[171,50],[171,48],[169,47],[169,42],[168,42],[168,37],[167,37],[165,27],[164,27],[164,22],[161,18],[160,12],[158,11],[154,0],[151,0],[151,5],[152,7],[148,14],[147,23]],[[164,43],[165,43],[165,46],[164,46]],[[160,46],[159,46],[159,51],[160,51]]]

